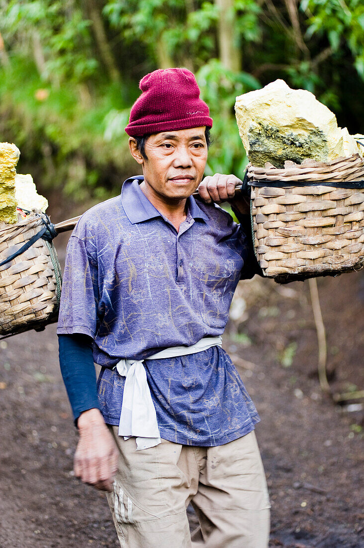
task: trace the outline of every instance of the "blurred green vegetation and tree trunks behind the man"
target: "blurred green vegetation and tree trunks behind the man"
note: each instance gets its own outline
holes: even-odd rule
[[[206,174],[242,177],[235,96],[276,78],[364,131],[363,36],[362,0],[0,0],[0,141],[45,193],[115,195],[138,82],[184,66],[214,118]]]

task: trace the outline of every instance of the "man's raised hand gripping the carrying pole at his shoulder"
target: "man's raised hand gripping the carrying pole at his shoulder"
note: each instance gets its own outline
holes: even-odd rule
[[[246,214],[249,213],[249,204],[240,196],[239,198],[235,196],[236,186],[240,185],[242,185],[242,181],[235,175],[215,173],[215,175],[205,177],[197,190],[206,203],[221,203],[228,200],[234,203],[234,207],[240,213]]]

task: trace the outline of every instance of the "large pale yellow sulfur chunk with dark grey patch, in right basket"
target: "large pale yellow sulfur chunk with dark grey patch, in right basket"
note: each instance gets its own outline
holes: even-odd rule
[[[269,162],[284,169],[285,162],[301,164],[362,155],[353,135],[339,128],[336,116],[305,89],[291,89],[283,80],[236,98],[236,121],[249,161],[256,167]]]

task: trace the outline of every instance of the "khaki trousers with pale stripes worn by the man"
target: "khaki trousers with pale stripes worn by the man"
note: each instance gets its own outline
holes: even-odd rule
[[[162,440],[136,452],[118,436],[108,503],[122,548],[267,548],[269,499],[255,432],[219,447]],[[191,535],[186,508],[200,527]]]

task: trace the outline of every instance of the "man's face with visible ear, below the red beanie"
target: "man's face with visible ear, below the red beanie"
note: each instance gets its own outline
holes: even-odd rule
[[[147,160],[133,156],[143,166],[146,190],[164,201],[187,198],[204,175],[205,126],[155,133],[147,139],[145,152]]]

